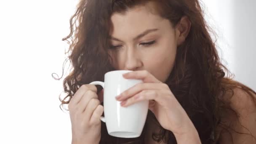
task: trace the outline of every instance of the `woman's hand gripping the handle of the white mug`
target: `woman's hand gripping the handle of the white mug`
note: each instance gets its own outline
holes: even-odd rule
[[[99,144],[103,93],[97,95],[95,85],[82,85],[69,102],[72,144]]]

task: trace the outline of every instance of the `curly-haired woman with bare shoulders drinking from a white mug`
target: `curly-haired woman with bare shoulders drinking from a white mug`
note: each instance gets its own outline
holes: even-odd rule
[[[81,0],[70,25],[74,69],[61,104],[72,144],[256,143],[256,93],[221,64],[198,0]],[[138,138],[108,135],[103,90],[88,85],[119,69],[144,81],[117,97],[122,106],[150,100]]]

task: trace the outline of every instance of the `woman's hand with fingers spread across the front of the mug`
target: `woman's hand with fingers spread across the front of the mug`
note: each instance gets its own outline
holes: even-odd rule
[[[196,131],[192,121],[167,84],[157,80],[146,70],[128,72],[123,77],[140,79],[144,83],[134,85],[117,96],[116,99],[122,101],[121,106],[127,107],[139,101],[149,100],[149,110],[154,113],[160,125],[172,131],[175,136],[182,137]]]

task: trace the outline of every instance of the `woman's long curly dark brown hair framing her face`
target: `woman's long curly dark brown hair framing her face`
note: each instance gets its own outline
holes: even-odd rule
[[[63,81],[67,96],[63,99],[59,96],[60,106],[69,104],[81,85],[104,81],[104,74],[115,70],[108,53],[112,13],[124,13],[149,1],[155,2],[157,14],[168,19],[173,27],[179,24],[182,16],[187,16],[191,21],[189,35],[177,48],[173,70],[165,83],[194,123],[201,142],[218,143],[216,128],[221,125],[221,112],[231,109],[223,101],[224,96],[227,93],[232,96],[234,88],[243,89],[251,96],[255,91],[232,80],[234,75],[221,64],[216,43],[210,36],[210,32],[214,32],[205,22],[199,0],[80,0],[77,11],[70,19],[70,33],[63,38],[69,43],[66,52],[69,57],[66,60],[71,61],[72,72]],[[98,85],[97,88],[98,92],[102,89]],[[158,142],[176,144],[173,133],[162,128],[151,111],[138,138],[109,136],[106,125],[102,123],[100,144],[144,144],[149,117],[161,129],[159,133],[153,133],[152,138]],[[228,129],[224,124],[222,128]]]

